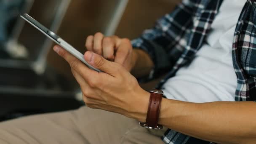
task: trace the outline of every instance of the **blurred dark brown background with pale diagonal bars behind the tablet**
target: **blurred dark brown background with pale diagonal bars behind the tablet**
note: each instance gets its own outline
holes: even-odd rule
[[[88,35],[133,39],[181,0],[0,0],[0,121],[83,105],[53,42],[22,20],[28,13],[84,53]],[[150,89],[157,80],[141,84]]]

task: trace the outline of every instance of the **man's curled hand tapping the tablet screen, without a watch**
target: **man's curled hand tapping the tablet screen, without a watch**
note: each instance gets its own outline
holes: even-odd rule
[[[127,38],[104,37],[102,33],[98,32],[94,36],[87,37],[85,47],[88,51],[93,51],[109,61],[115,61],[123,65],[129,72],[131,72],[137,60],[131,41]]]

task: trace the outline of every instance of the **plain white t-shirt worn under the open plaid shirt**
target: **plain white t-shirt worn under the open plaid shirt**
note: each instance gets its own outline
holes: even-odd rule
[[[237,77],[232,43],[237,20],[246,0],[224,0],[212,31],[196,58],[164,85],[168,99],[190,102],[235,101]]]

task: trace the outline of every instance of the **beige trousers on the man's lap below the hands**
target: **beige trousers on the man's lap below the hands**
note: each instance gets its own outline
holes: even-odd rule
[[[162,144],[166,129],[99,109],[35,115],[0,123],[0,144]]]

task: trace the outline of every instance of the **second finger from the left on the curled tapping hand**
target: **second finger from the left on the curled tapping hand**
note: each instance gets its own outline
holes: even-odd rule
[[[93,38],[93,52],[101,55],[102,54],[102,40],[104,35],[100,32],[97,32]]]

